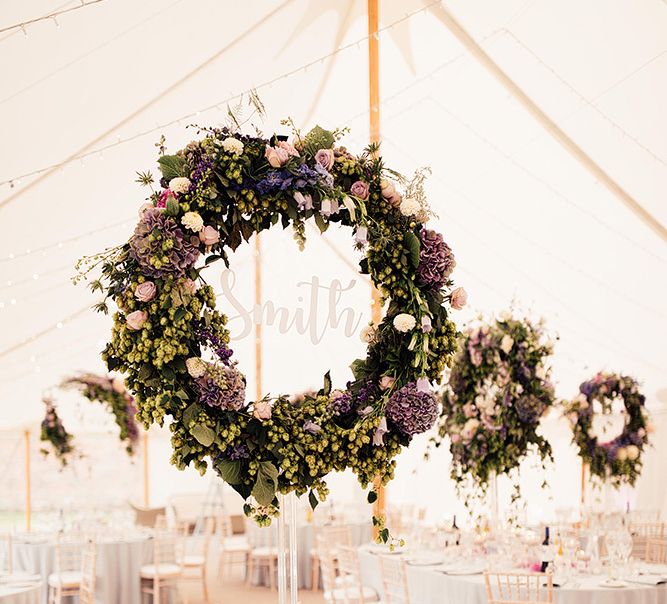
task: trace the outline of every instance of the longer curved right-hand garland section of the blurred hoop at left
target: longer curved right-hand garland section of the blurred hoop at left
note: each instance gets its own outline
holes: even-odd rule
[[[125,443],[125,450],[128,455],[134,455],[139,440],[139,426],[135,421],[137,408],[134,397],[127,391],[121,378],[83,373],[67,378],[61,386],[76,388],[89,401],[105,404],[120,429],[119,438]]]

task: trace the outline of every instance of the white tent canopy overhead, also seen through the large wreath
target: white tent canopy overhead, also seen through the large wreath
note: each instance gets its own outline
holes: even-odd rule
[[[0,29],[76,4],[8,0]],[[664,1],[444,4],[599,166],[667,224]],[[433,171],[434,228],[454,249],[454,278],[470,294],[459,323],[516,300],[560,337],[553,362],[559,396],[572,396],[599,369],[616,370],[636,376],[659,413],[656,393],[667,369],[665,241],[463,49],[439,6],[380,3],[382,150],[404,173]],[[42,392],[64,375],[103,370],[98,352],[109,320],[85,310],[95,298],[69,277],[78,257],[131,232],[145,197],[134,173],[156,171],[160,134],[175,151],[196,136],[187,124],[217,125],[228,101],[257,88],[268,110],[265,132],[284,131],[280,119],[291,116],[304,129],[349,126],[346,144],[365,145],[365,9],[363,0],[102,0],[61,15],[59,27],[46,19],[0,33],[2,424],[37,421]],[[313,275],[325,286],[355,279],[337,308],[353,309],[352,324],[363,324],[368,288],[328,244],[356,263],[349,233],[327,234],[326,242],[311,233],[303,254],[289,233],[270,233],[264,293],[293,316],[312,310]],[[251,261],[250,246],[233,259],[234,295],[245,308],[253,299]],[[210,279],[219,283],[218,273]],[[342,384],[362,353],[345,321],[325,325],[329,294],[319,291],[313,324],[321,341],[295,329],[281,333],[277,322],[265,326],[266,391],[317,387],[328,368]],[[229,301],[220,303],[236,314]],[[244,325],[232,321],[252,383],[254,342]]]

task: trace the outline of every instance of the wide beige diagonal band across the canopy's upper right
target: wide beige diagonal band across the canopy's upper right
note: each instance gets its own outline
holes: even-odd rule
[[[370,0],[369,0],[370,4]],[[576,142],[563,131],[540,107],[531,99],[500,66],[484,51],[474,38],[463,28],[463,26],[447,10],[443,3],[439,3],[435,10],[440,11],[441,21],[447,29],[456,37],[463,47],[477,61],[502,84],[504,88],[526,109],[535,120],[570,154],[576,159],[592,176],[603,184],[613,195],[615,195],[625,206],[634,212],[640,220],[647,224],[663,241],[667,242],[667,228],[660,223],[651,213],[630,195],[616,180],[614,180],[604,169],[602,169]],[[371,119],[372,119],[371,114]]]

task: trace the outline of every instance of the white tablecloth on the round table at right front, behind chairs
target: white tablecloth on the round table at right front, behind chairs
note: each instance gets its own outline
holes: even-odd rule
[[[382,595],[380,560],[364,548],[359,550],[364,585]],[[407,566],[408,589],[414,604],[486,604],[483,575],[451,576],[429,566]],[[667,585],[629,584],[623,588],[600,586],[603,577],[577,577],[554,588],[554,604],[667,604]],[[580,583],[576,589],[575,583]]]

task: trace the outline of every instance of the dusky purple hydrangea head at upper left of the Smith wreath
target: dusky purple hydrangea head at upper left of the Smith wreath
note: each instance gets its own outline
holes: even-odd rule
[[[132,257],[150,277],[182,277],[197,261],[198,246],[197,237],[186,237],[178,224],[158,208],[143,213],[130,239]]]

